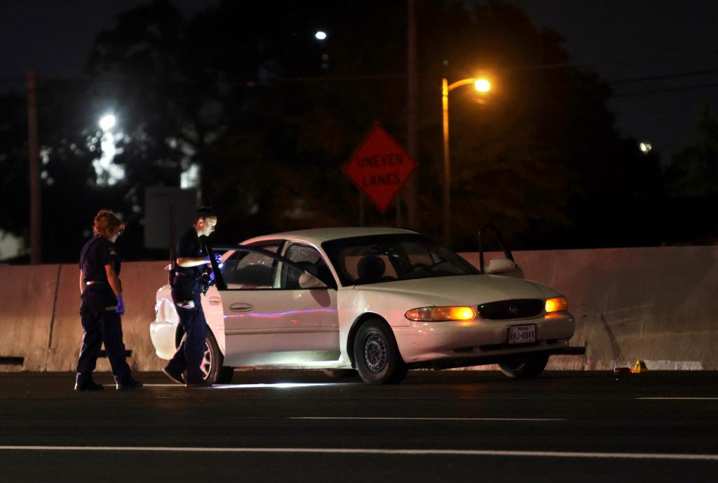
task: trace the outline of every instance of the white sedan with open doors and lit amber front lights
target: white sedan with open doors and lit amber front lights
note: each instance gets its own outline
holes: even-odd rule
[[[498,364],[513,378],[538,375],[574,334],[567,300],[541,283],[475,268],[419,233],[325,228],[276,233],[213,260],[202,296],[210,330],[202,370],[226,383],[234,367],[321,368],[366,383],[398,383],[409,369]],[[480,254],[482,255],[482,253]],[[169,286],[151,323],[159,357],[182,339]]]

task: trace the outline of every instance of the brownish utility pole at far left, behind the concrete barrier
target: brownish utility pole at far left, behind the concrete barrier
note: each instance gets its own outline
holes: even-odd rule
[[[27,72],[27,152],[30,184],[30,263],[42,263],[42,199],[40,196],[39,146],[37,144],[37,76]]]

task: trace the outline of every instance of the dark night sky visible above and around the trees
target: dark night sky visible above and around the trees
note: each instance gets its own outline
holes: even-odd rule
[[[114,14],[142,3],[1,0],[0,89],[22,87],[24,71],[30,68],[45,77],[81,75],[95,35],[113,27]],[[188,17],[217,2],[172,3]],[[717,105],[718,6],[714,0],[514,3],[526,9],[538,27],[549,27],[566,37],[575,63],[610,81],[617,94],[610,107],[624,134],[670,152],[691,141],[700,106]]]

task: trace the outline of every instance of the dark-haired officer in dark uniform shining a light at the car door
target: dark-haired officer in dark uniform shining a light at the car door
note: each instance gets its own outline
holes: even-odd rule
[[[200,365],[205,355],[207,322],[202,311],[202,272],[210,262],[200,242],[200,237],[209,236],[217,225],[217,215],[211,208],[202,207],[197,211],[195,224],[182,235],[177,243],[177,261],[172,281],[172,301],[180,316],[180,324],[187,337],[177,347],[174,357],[164,367],[164,372],[176,383],[188,388],[212,385],[205,380]],[[186,378],[182,372],[187,371]]]

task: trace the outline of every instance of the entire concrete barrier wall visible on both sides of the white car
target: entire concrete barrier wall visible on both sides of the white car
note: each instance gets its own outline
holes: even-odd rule
[[[464,253],[478,264],[476,253]],[[488,258],[498,254],[487,254]],[[718,369],[718,247],[545,250],[514,253],[524,278],[553,286],[577,319],[580,356],[553,369]],[[124,342],[133,370],[160,370],[149,322],[166,262],[124,263]],[[0,370],[72,371],[82,338],[78,268],[0,267]],[[17,364],[22,358],[22,365]],[[8,363],[14,362],[14,363]],[[98,370],[109,370],[100,360]]]

